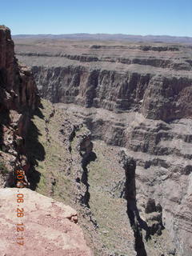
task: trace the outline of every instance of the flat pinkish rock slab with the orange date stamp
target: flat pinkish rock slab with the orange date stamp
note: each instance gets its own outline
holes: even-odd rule
[[[76,211],[62,202],[28,189],[0,189],[0,256],[93,255],[77,222]]]

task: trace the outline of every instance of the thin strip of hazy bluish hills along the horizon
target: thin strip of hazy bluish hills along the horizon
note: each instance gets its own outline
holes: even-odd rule
[[[40,39],[72,39],[72,40],[115,40],[130,42],[167,42],[192,43],[190,37],[176,37],[169,35],[130,35],[130,34],[16,34],[13,38],[40,38]]]

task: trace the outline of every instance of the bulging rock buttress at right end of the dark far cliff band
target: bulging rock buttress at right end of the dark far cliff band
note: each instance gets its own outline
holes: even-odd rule
[[[142,114],[170,121],[192,117],[192,79],[186,76],[156,76],[144,93]]]

